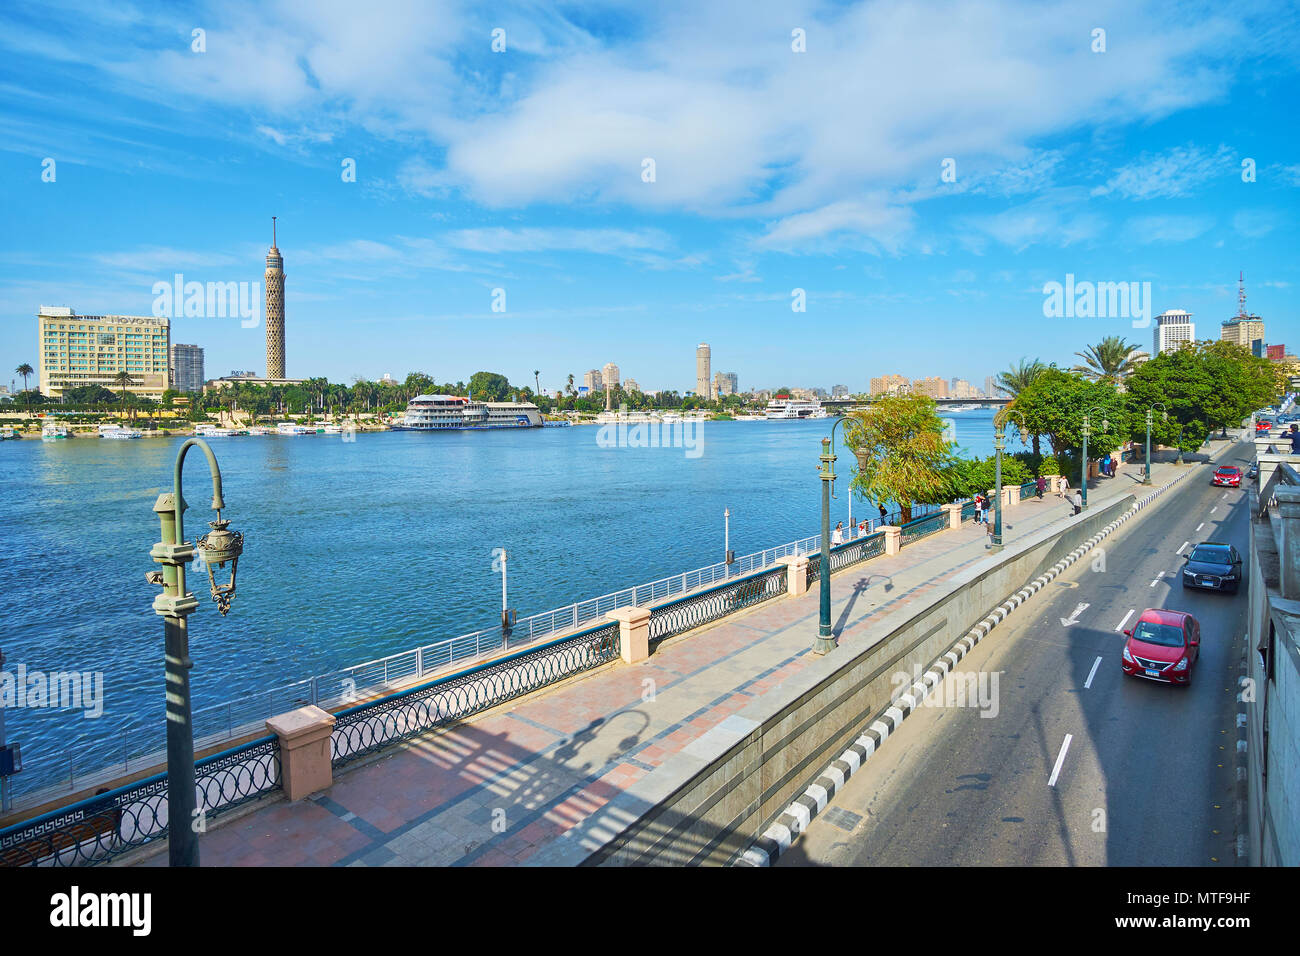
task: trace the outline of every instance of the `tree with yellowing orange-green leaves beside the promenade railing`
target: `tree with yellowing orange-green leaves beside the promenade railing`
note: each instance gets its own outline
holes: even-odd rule
[[[914,502],[942,494],[950,449],[933,399],[885,395],[850,412],[844,428],[844,441],[858,458],[850,488],[863,498],[898,502],[907,522]]]

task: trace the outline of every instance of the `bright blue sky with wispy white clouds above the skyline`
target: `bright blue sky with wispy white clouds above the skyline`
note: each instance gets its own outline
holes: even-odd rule
[[[1256,3],[6,4],[0,360],[36,364],[42,304],[260,284],[272,215],[294,377],[555,388],[615,362],[684,392],[707,341],[742,388],[864,390],[1149,345],[1044,317],[1067,273],[1150,282],[1204,338],[1244,269],[1300,351],[1297,25]],[[238,319],[172,341],[209,376],[265,371]]]

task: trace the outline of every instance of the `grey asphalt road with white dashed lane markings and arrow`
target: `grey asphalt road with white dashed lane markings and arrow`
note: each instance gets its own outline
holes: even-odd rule
[[[1222,449],[1217,463],[1253,459]],[[1179,549],[1228,541],[1249,561],[1247,493],[1190,467],[1101,542],[1104,564],[1093,549],[976,645],[931,693],[946,705],[910,715],[777,865],[1235,865],[1245,588],[1183,591]],[[1190,687],[1122,674],[1122,631],[1147,607],[1201,622]],[[983,696],[954,705],[976,674]]]

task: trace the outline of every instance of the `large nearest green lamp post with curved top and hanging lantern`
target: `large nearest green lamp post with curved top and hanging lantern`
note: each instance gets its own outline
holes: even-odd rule
[[[208,459],[208,471],[212,472],[212,509],[217,512],[217,520],[208,522],[212,531],[199,538],[198,545],[185,540],[185,510],[188,505],[181,494],[181,466],[191,446],[200,447]],[[168,858],[172,866],[199,865],[199,836],[194,830],[194,728],[190,724],[190,669],[194,662],[190,659],[187,623],[199,601],[186,588],[185,570],[198,550],[208,567],[212,600],[225,617],[235,596],[235,572],[243,553],[243,535],[229,531],[230,522],[221,518],[224,507],[221,470],[216,455],[205,441],[187,440],[176,457],[172,493],[160,494],[153,505],[162,525],[162,540],[153,545],[150,557],[162,570],[147,575],[152,584],[162,585],[162,593],[153,598],[153,610],[162,618],[166,654]],[[226,562],[230,562],[230,583],[220,585],[214,568],[224,568]]]

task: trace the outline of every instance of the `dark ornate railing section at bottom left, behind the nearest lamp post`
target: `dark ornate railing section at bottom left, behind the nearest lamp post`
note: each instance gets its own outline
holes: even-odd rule
[[[204,818],[280,790],[280,740],[254,740],[194,765]],[[168,834],[168,777],[138,783],[64,806],[0,830],[3,866],[100,864]],[[186,826],[191,821],[185,821]]]

